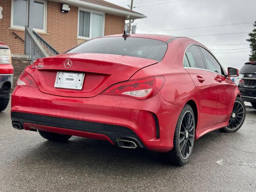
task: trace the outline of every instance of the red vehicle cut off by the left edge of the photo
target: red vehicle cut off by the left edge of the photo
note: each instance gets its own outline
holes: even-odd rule
[[[0,42],[0,112],[8,106],[12,79],[13,67],[10,48]]]

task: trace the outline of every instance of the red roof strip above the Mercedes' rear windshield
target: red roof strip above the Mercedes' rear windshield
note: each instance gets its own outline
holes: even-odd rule
[[[116,35],[108,35],[104,37],[122,37],[123,34],[116,34]],[[177,38],[176,36],[170,36],[170,35],[158,35],[158,34],[130,34],[130,36],[126,36],[127,38],[129,37],[139,37],[139,38],[148,38],[148,39],[156,39],[156,40],[161,40],[164,42],[167,42],[170,39]]]

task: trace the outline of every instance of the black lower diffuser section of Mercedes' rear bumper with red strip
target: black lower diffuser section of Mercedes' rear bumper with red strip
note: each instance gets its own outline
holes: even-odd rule
[[[138,136],[131,129],[124,126],[23,112],[12,112],[11,119],[12,122],[20,123],[21,129],[25,130],[39,129],[62,134],[65,132],[76,136],[108,140],[112,144],[116,143],[116,138],[130,138],[136,141],[141,148],[146,148]]]

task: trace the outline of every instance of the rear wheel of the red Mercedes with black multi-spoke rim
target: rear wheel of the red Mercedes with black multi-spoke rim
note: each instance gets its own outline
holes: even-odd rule
[[[187,121],[189,118],[189,121]],[[187,123],[188,122],[188,123]],[[190,125],[189,125],[190,124]],[[182,133],[182,134],[181,134]],[[183,141],[182,141],[183,140]],[[176,124],[173,148],[164,154],[174,165],[184,165],[188,162],[194,147],[195,117],[190,105],[186,104],[180,113]]]

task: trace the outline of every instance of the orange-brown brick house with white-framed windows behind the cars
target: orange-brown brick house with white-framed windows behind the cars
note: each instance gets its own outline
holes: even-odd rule
[[[62,11],[63,5],[70,10]],[[128,18],[146,17],[104,0],[0,0],[0,14],[0,42],[7,44],[12,54],[24,54],[28,20],[33,30],[61,53],[90,38],[123,33]]]

